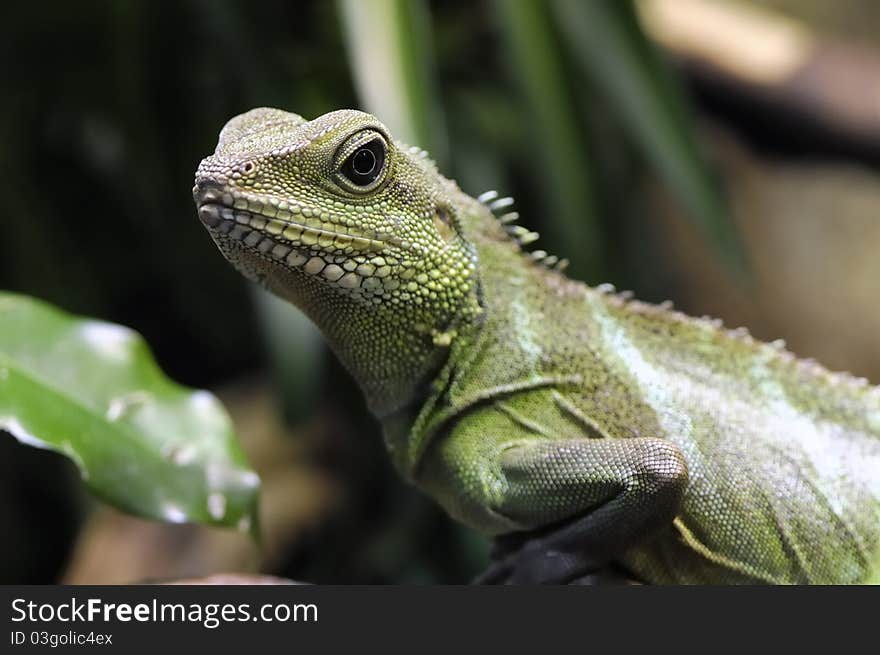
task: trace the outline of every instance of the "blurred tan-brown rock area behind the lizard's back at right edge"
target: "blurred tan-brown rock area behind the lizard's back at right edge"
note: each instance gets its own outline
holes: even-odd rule
[[[756,154],[715,125],[706,142],[754,271],[722,270],[702,237],[655,191],[660,247],[684,308],[784,338],[802,357],[880,383],[880,173],[840,161]]]

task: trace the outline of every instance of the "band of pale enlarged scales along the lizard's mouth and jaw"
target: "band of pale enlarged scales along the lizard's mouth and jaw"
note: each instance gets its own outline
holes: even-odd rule
[[[204,200],[211,203],[215,198],[207,197],[209,194],[205,195]],[[216,200],[219,199],[220,197],[216,197]],[[283,211],[278,210],[278,213]],[[381,295],[399,286],[397,280],[388,277],[391,267],[385,258],[376,256],[364,263],[349,258],[355,254],[378,253],[385,247],[383,241],[276,220],[250,211],[233,209],[226,206],[225,202],[223,205],[202,204],[199,214],[211,230],[240,241],[272,259],[283,261],[288,266],[299,268],[309,275],[320,274],[343,289],[362,289]],[[326,254],[308,254],[307,249],[314,249],[316,246]]]

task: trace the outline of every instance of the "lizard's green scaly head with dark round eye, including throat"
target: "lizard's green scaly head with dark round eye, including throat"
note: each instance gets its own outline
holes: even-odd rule
[[[460,214],[475,201],[370,114],[236,116],[199,165],[193,197],[226,258],[303,309],[337,350],[360,351],[349,362],[376,353],[358,340],[436,345],[473,308],[476,254]]]

